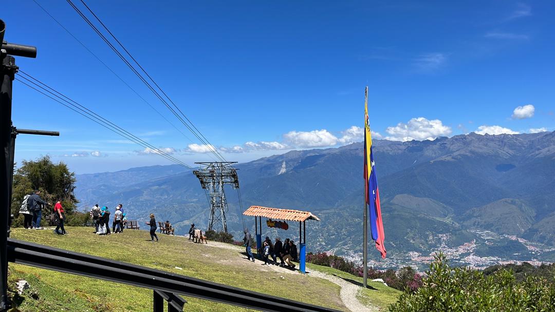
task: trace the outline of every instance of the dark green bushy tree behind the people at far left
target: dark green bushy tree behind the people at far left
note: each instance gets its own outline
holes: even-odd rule
[[[54,204],[61,200],[66,214],[72,214],[79,202],[74,195],[75,174],[70,172],[63,162],[52,163],[49,156],[38,158],[36,161],[23,161],[22,166],[14,173],[11,207],[14,216],[18,216],[23,197],[34,190],[41,191],[42,199],[49,203]],[[48,222],[53,208],[43,208],[45,223]],[[13,223],[13,226],[17,225],[20,225],[19,219]]]

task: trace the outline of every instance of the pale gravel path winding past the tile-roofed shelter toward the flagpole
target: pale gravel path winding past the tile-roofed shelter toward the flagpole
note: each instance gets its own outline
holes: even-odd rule
[[[206,246],[206,245],[205,245]],[[209,242],[209,246],[210,247],[218,247],[218,248],[225,248],[225,249],[233,249],[233,250],[237,250],[237,251],[241,251],[244,248],[241,248],[239,246],[235,246],[235,245],[230,245],[230,244],[225,244],[225,243],[219,243],[219,242]],[[208,246],[207,246],[208,247]],[[257,264],[261,264],[260,261],[256,262]],[[274,270],[275,272],[279,272],[279,273],[283,273],[283,274],[300,274],[299,271],[293,271],[293,270],[289,270],[286,268],[281,268],[278,265],[269,265],[269,266],[263,266],[260,268],[260,270],[266,271],[266,270]],[[365,306],[364,304],[360,303],[359,299],[356,298],[356,294],[359,292],[359,290],[362,289],[362,287],[357,286],[355,284],[349,283],[346,280],[343,280],[339,277],[336,277],[334,275],[329,275],[314,269],[310,269],[310,271],[307,274],[308,276],[311,277],[318,277],[318,278],[322,278],[322,279],[327,279],[330,282],[339,285],[339,287],[341,287],[340,290],[340,297],[341,297],[341,301],[343,302],[343,304],[347,307],[347,309],[349,309],[352,312],[377,312],[378,309],[375,306],[369,307],[369,306]]]

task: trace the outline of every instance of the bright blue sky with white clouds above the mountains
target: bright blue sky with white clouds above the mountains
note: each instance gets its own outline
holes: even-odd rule
[[[162,112],[183,125],[64,1],[37,0]],[[74,3],[84,9],[75,0]],[[555,130],[555,3],[88,1],[227,160],[361,141],[369,86],[375,137]],[[213,160],[32,0],[5,4],[21,69],[180,160]],[[16,161],[50,155],[77,173],[170,163],[14,82]]]

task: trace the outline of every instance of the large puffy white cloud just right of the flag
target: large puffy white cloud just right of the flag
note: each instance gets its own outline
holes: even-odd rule
[[[452,132],[451,127],[443,125],[441,120],[427,120],[424,117],[413,118],[406,124],[399,122],[395,127],[387,127],[385,131],[389,135],[386,139],[392,141],[434,140]]]

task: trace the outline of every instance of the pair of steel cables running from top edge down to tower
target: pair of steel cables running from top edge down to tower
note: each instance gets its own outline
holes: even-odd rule
[[[77,13],[79,14],[79,16],[80,16],[80,17],[81,17],[81,18],[82,18],[82,19],[94,30],[94,32],[97,33],[97,34],[99,35],[100,38],[102,38],[102,40],[104,41],[104,43],[106,43],[106,44],[108,45],[108,47],[110,47],[110,49],[112,49],[113,52],[114,52],[115,54],[117,54],[118,57],[119,57],[120,59],[122,59],[122,61],[125,63],[125,65],[127,65],[127,66],[129,67],[129,69],[131,69],[131,70],[133,71],[133,73],[134,73],[135,75],[137,75],[137,77],[138,77],[141,81],[143,81],[143,83],[147,86],[147,88],[149,88],[150,91],[152,91],[152,92],[154,93],[154,95],[157,96],[157,98],[158,98],[160,101],[162,101],[162,103],[166,106],[166,108],[168,108],[168,109],[174,114],[174,116],[175,116],[176,118],[178,118],[178,119],[181,121],[181,123],[183,123],[183,125],[184,125],[185,127],[187,127],[187,128],[189,129],[189,131],[190,131],[197,139],[199,139],[200,142],[202,142],[206,147],[208,147],[208,149],[209,149],[216,157],[218,157],[221,161],[225,161],[225,158],[224,158],[223,156],[221,156],[221,154],[214,148],[214,146],[211,145],[211,144],[208,142],[208,140],[203,139],[204,136],[200,133],[200,131],[198,131],[198,129],[196,129],[196,127],[195,127],[195,126],[192,124],[192,122],[190,122],[190,120],[183,114],[183,112],[182,112],[173,102],[171,102],[171,103],[175,106],[175,108],[178,109],[178,111],[181,113],[181,115],[183,115],[183,117],[185,117],[185,119],[186,119],[187,121],[189,121],[189,124],[190,124],[190,125],[188,124],[188,122],[186,122],[186,121],[183,119],[183,117],[181,117],[181,116],[178,114],[177,111],[175,111],[175,109],[173,109],[173,108],[168,104],[168,102],[163,98],[163,96],[160,95],[160,94],[158,93],[158,91],[154,89],[154,87],[153,87],[153,86],[152,86],[152,85],[151,85],[151,84],[150,84],[150,83],[138,72],[138,70],[135,69],[135,68],[133,67],[132,64],[130,64],[130,62],[122,55],[122,53],[120,53],[119,50],[118,50],[117,48],[115,48],[114,45],[113,45],[112,43],[110,43],[110,41],[104,36],[104,34],[102,34],[102,32],[100,32],[100,30],[99,30],[99,29],[98,29],[98,28],[97,28],[97,27],[96,27],[96,26],[95,26],[95,25],[83,14],[83,12],[81,12],[81,11],[79,10],[79,8],[78,8],[77,6],[75,6],[75,4],[73,4],[73,2],[72,2],[71,0],[67,0],[67,2],[70,4],[70,6],[72,6],[72,8],[75,10],[75,12],[77,12]],[[85,4],[85,6],[86,6],[86,4]],[[88,7],[87,7],[87,8],[88,8]],[[89,8],[89,11],[90,11],[90,8]],[[92,12],[92,11],[90,11],[90,12]],[[93,14],[94,14],[94,13],[93,13]],[[96,16],[95,16],[95,17],[96,17]],[[98,17],[96,17],[96,18],[98,19]],[[98,19],[98,20],[99,20],[99,19]],[[101,23],[102,23],[102,22],[101,22]],[[104,28],[106,28],[104,24],[103,24],[103,26],[104,26]],[[108,30],[108,32],[109,32],[109,30]],[[111,34],[111,33],[110,33],[110,34]],[[113,36],[113,34],[112,34],[112,36]],[[114,38],[115,38],[115,37],[114,37]],[[117,40],[117,39],[116,39],[116,40]],[[119,43],[119,41],[118,41],[118,43]],[[119,43],[119,44],[120,44],[120,43]],[[121,44],[120,44],[120,45],[121,45]],[[122,46],[122,47],[123,47],[123,46]],[[127,50],[126,50],[126,52],[127,52]],[[129,52],[127,52],[127,53],[129,54]],[[132,57],[132,58],[133,58],[133,57]],[[133,59],[133,60],[134,60],[134,59]],[[137,63],[136,60],[134,60],[134,62]],[[138,64],[138,63],[137,63],[137,64]],[[140,65],[139,65],[139,67],[140,67]],[[144,69],[143,69],[142,67],[140,67],[140,68],[144,71]],[[144,72],[146,73],[146,71],[144,71]],[[148,74],[147,74],[147,76],[152,80],[152,78],[151,78]],[[154,81],[154,80],[153,80],[153,81]],[[156,84],[156,85],[157,85],[157,84]],[[160,87],[159,87],[158,85],[157,85],[157,87],[160,89]],[[160,89],[160,91],[163,92],[162,89]],[[165,95],[165,93],[164,93],[164,95]],[[167,97],[167,95],[166,95],[166,97]],[[168,99],[169,99],[169,98],[168,98]],[[170,101],[171,101],[171,99],[170,99]],[[196,131],[195,131],[194,129],[195,129]]]

